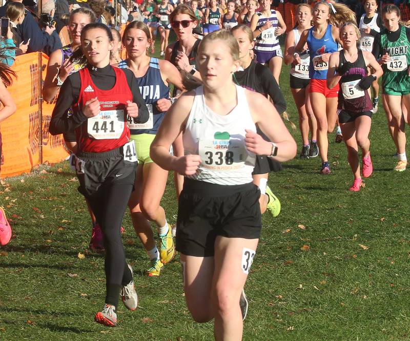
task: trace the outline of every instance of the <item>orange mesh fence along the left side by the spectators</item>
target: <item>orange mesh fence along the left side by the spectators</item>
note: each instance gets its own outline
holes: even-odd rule
[[[30,172],[35,165],[48,161],[55,163],[64,160],[68,153],[61,136],[50,136],[48,125],[54,104],[43,103],[40,122],[39,98],[41,89],[38,77],[45,77],[48,57],[43,54],[42,75],[38,69],[38,52],[17,56],[13,70],[17,80],[8,88],[17,110],[2,122],[2,178]],[[40,133],[39,126],[42,127]],[[40,153],[41,148],[42,153]]]

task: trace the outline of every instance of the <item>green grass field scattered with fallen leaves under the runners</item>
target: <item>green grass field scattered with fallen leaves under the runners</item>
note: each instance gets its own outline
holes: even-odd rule
[[[283,67],[280,84],[297,125],[288,72]],[[334,134],[330,142],[330,175],[318,174],[319,158],[294,159],[270,175],[282,212],[263,217],[245,287],[244,340],[410,339],[410,171],[392,171],[382,109],[371,132],[375,171],[359,193],[348,191],[344,144]],[[123,238],[139,308],[120,304],[117,328],[94,323],[104,304],[104,258],[88,252],[91,222],[77,185],[62,162],[0,186],[15,235],[0,249],[0,340],[212,340],[212,324],[194,323],[185,306],[178,258],[158,278],[142,275],[147,256],[128,212]],[[171,178],[162,206],[174,223]]]

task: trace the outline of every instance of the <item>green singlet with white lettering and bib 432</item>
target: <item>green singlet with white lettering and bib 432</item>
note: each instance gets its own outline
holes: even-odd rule
[[[405,27],[400,27],[400,37],[396,42],[390,42],[387,34],[382,34],[380,43],[383,53],[388,53],[391,58],[383,65],[383,93],[395,96],[410,93],[410,77],[407,74],[410,65],[410,42],[407,40]]]

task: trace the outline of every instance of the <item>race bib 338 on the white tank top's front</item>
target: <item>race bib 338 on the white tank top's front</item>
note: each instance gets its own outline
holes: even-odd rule
[[[199,156],[203,168],[227,172],[242,168],[248,158],[248,152],[244,142],[239,139],[199,140]]]

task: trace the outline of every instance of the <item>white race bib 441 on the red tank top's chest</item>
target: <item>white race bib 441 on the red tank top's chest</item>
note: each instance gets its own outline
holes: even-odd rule
[[[124,110],[104,110],[87,120],[87,132],[96,140],[118,139],[124,124]]]

